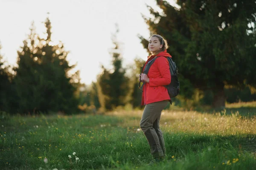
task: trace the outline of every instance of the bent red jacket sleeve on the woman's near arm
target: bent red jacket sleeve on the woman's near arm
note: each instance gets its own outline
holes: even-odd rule
[[[169,85],[171,83],[171,73],[168,59],[166,57],[159,57],[155,62],[160,71],[161,78],[149,79],[149,86]]]

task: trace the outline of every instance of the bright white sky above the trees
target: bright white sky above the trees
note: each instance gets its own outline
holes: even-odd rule
[[[173,0],[167,0],[174,5]],[[154,7],[155,0],[0,0],[0,53],[9,65],[16,65],[17,50],[29,34],[32,21],[36,32],[46,30],[44,21],[49,12],[52,40],[62,41],[70,51],[68,61],[77,63],[81,82],[89,85],[100,73],[100,65],[110,68],[113,47],[111,33],[119,25],[118,40],[123,43],[123,64],[136,57],[147,59],[147,52],[137,34],[149,38],[148,26],[141,14],[150,17],[145,4]]]

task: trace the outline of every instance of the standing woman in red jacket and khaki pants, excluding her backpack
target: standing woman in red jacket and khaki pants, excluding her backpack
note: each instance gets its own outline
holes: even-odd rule
[[[169,62],[166,57],[172,57],[167,53],[167,41],[160,35],[152,35],[149,39],[148,50],[151,56],[145,65],[158,57],[151,65],[148,74],[140,74],[139,81],[144,82],[141,105],[145,105],[140,128],[143,130],[150,146],[153,160],[159,162],[166,156],[166,148],[163,133],[159,128],[160,116],[163,109],[170,100],[167,89],[164,85],[171,82]],[[143,70],[145,69],[145,66]]]

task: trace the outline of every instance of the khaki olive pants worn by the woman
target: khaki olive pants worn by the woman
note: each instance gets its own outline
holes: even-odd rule
[[[168,101],[164,100],[146,105],[140,120],[140,128],[148,140],[153,158],[166,155],[163,133],[159,128],[159,122],[161,112],[167,104]]]

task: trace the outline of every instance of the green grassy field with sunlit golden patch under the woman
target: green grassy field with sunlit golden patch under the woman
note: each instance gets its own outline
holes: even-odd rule
[[[146,166],[152,158],[139,127],[141,115],[1,117],[0,167],[256,170],[256,102],[227,105],[219,112],[163,111],[160,128],[168,156],[151,167]]]

